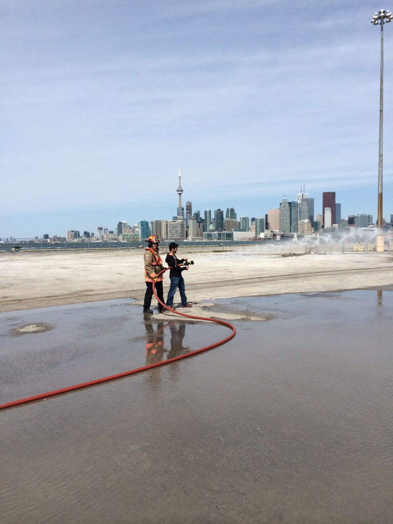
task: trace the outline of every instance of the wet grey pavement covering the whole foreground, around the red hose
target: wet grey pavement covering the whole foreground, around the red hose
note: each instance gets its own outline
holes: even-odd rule
[[[2,521],[390,523],[392,307],[392,291],[220,300],[267,320],[0,412]],[[1,313],[0,402],[227,334],[123,299]]]

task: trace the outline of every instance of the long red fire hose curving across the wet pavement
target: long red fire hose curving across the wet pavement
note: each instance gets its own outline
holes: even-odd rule
[[[166,269],[163,269],[162,271],[160,271],[158,273],[157,276],[163,274],[168,269],[169,269],[169,267],[166,268]],[[116,375],[111,375],[111,376],[103,377],[103,378],[96,378],[95,380],[90,380],[89,382],[84,382],[82,384],[75,384],[74,386],[67,386],[65,388],[56,389],[54,391],[48,391],[46,393],[40,393],[39,395],[34,395],[32,397],[20,398],[18,400],[13,400],[11,402],[5,402],[4,404],[0,404],[0,409],[11,408],[13,406],[19,406],[20,404],[26,404],[27,402],[32,402],[34,400],[46,399],[48,397],[53,397],[54,395],[60,395],[62,393],[67,393],[68,391],[74,391],[75,389],[82,389],[82,388],[86,388],[86,387],[89,387],[89,386],[94,386],[95,384],[102,384],[103,382],[107,382],[108,380],[114,380],[116,378],[126,377],[127,375],[133,375],[134,373],[139,373],[140,371],[145,371],[146,369],[150,369],[152,367],[162,366],[163,364],[169,364],[170,362],[174,362],[174,361],[180,360],[181,358],[186,358],[186,357],[189,357],[191,355],[196,355],[197,353],[202,353],[202,351],[211,350],[213,347],[217,347],[217,346],[220,346],[221,344],[224,344],[225,342],[228,342],[228,340],[231,340],[235,336],[235,334],[236,334],[235,326],[233,326],[229,322],[225,322],[224,320],[219,320],[219,319],[208,318],[206,316],[195,316],[195,315],[190,315],[190,314],[187,314],[187,313],[180,313],[180,311],[176,311],[176,310],[168,307],[166,304],[161,302],[161,300],[157,297],[156,287],[155,287],[155,283],[154,282],[153,282],[153,292],[154,292],[155,297],[158,300],[158,302],[164,308],[168,309],[169,311],[172,311],[172,313],[176,313],[176,314],[181,315],[181,316],[187,316],[189,319],[198,319],[198,320],[206,320],[206,321],[209,321],[209,322],[216,322],[217,324],[222,324],[224,326],[227,326],[227,328],[230,328],[232,330],[232,333],[229,336],[227,336],[225,339],[220,340],[219,342],[215,342],[214,344],[210,344],[209,346],[201,347],[200,350],[190,351],[189,353],[186,353],[185,355],[179,355],[177,357],[168,358],[165,361],[156,362],[155,364],[149,364],[148,366],[143,366],[143,367],[138,367],[138,368],[135,368],[135,369],[130,369],[129,371],[124,371],[123,373],[117,373]]]

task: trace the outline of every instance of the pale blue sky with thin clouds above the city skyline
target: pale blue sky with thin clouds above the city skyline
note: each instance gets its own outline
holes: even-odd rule
[[[377,218],[380,27],[362,0],[2,0],[0,237],[234,207],[302,184]],[[384,26],[384,217],[393,214]]]

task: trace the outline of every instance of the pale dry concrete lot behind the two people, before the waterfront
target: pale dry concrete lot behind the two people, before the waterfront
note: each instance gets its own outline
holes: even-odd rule
[[[322,246],[318,253],[305,254],[307,247],[301,245],[234,247],[178,253],[195,261],[184,272],[189,301],[393,285],[393,256],[387,252],[343,254],[341,246]],[[0,311],[126,297],[141,304],[146,289],[143,253],[3,254]],[[168,289],[165,275],[164,293]]]

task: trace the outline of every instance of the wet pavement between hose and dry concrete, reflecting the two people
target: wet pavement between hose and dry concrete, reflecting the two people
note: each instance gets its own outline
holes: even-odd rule
[[[143,315],[129,300],[0,313],[0,403],[161,362],[225,331]]]

